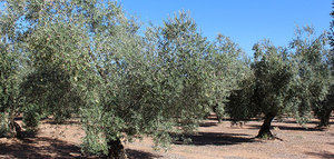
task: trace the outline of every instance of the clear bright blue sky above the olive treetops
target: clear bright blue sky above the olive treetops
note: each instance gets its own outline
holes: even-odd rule
[[[190,12],[204,36],[230,37],[248,56],[253,44],[269,39],[287,46],[296,26],[313,26],[316,33],[328,30],[332,0],[120,0],[127,13],[145,24],[161,26],[179,10]],[[334,9],[333,9],[334,10]]]

